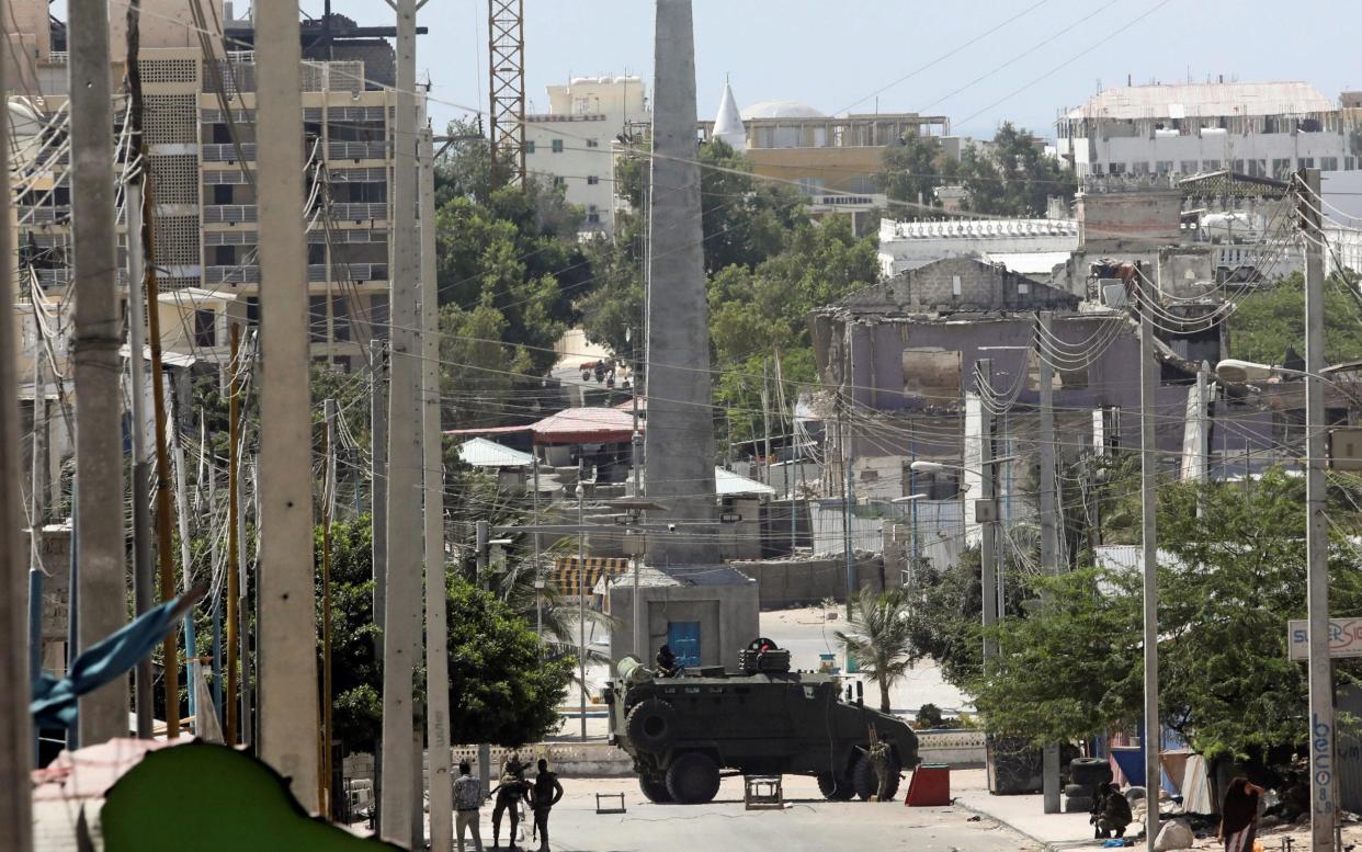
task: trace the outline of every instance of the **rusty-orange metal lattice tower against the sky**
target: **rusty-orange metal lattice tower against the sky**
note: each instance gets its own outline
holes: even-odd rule
[[[493,174],[524,182],[524,0],[488,0]]]

